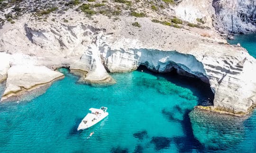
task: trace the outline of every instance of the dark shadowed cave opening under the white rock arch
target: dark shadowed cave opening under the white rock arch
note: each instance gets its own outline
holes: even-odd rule
[[[189,76],[179,75],[176,68],[171,68],[167,73],[157,73],[149,70],[145,65],[140,65],[137,71],[148,73],[157,77],[164,77],[171,83],[188,88],[193,95],[198,97],[198,105],[212,106],[214,93],[211,91],[210,84],[203,82],[200,78],[190,74]]]

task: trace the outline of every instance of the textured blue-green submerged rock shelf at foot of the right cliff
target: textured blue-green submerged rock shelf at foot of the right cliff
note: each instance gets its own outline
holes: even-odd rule
[[[225,150],[236,147],[245,136],[243,121],[246,118],[198,109],[192,110],[189,117],[193,135],[206,149]]]

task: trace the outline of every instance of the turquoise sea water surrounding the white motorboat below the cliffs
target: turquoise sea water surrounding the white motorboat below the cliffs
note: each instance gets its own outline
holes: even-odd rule
[[[256,111],[237,118],[193,110],[198,104],[212,105],[214,96],[198,79],[140,67],[111,74],[115,85],[90,86],[77,83],[68,69],[59,71],[65,78],[45,94],[0,103],[1,153],[256,152]],[[4,84],[0,94],[3,90]],[[77,131],[88,109],[101,106],[109,108],[109,116]]]

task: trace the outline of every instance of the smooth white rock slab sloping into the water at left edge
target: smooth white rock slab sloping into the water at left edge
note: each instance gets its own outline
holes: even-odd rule
[[[63,78],[60,72],[53,71],[45,66],[13,66],[8,70],[6,89],[1,101],[19,100],[20,95],[51,84]]]

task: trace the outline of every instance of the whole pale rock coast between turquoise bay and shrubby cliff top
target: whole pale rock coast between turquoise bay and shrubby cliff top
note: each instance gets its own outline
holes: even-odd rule
[[[170,8],[177,11],[190,6],[185,2]],[[197,9],[210,3],[205,4]],[[1,101],[18,100],[27,91],[63,78],[56,68],[70,68],[82,83],[112,84],[109,73],[144,65],[159,73],[177,69],[180,75],[209,83],[214,106],[199,108],[247,114],[256,104],[256,80],[250,75],[256,71],[256,59],[244,48],[229,45],[213,27],[166,26],[152,22],[154,16],[122,14],[116,20],[101,14],[83,17],[69,9],[58,17],[49,14],[45,21],[23,15],[13,24],[5,23],[0,29],[0,80],[7,79],[7,88]],[[64,22],[66,17],[72,20]],[[183,23],[188,23],[186,17],[181,17]],[[208,20],[200,21],[206,27],[212,24]],[[132,25],[135,21],[140,27]]]

